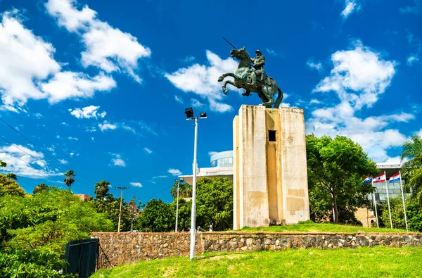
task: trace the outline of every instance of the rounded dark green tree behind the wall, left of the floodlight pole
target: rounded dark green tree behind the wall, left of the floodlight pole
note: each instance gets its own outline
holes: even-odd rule
[[[134,227],[141,232],[172,232],[176,221],[175,212],[170,203],[153,198],[146,203]]]

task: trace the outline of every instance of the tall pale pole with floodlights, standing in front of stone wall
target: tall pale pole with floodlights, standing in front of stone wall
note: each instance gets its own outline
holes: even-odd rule
[[[195,257],[195,221],[196,221],[196,146],[198,143],[198,117],[193,115],[193,109],[191,107],[185,109],[186,120],[195,120],[195,141],[193,143],[193,182],[192,182],[192,214],[191,214],[191,250],[190,258],[193,260]],[[200,119],[207,118],[207,113],[200,113]]]

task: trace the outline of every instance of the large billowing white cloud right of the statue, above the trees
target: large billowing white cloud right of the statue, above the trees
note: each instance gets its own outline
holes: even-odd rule
[[[395,61],[384,61],[379,53],[361,43],[352,50],[336,51],[331,58],[331,75],[321,80],[314,91],[335,91],[340,103],[313,110],[306,122],[307,133],[349,137],[376,162],[389,160],[388,149],[402,146],[406,140],[390,125],[414,120],[414,115],[397,112],[359,118],[356,112],[378,101],[395,74]]]

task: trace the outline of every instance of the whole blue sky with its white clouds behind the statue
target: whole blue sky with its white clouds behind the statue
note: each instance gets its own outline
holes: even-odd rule
[[[101,179],[124,198],[171,201],[174,178],[232,149],[241,104],[217,78],[233,72],[226,37],[252,55],[305,110],[307,133],[357,141],[376,162],[398,162],[422,135],[422,1],[0,0],[0,159],[32,192],[76,194]],[[6,123],[13,127],[11,129]],[[23,134],[23,136],[18,134]],[[42,149],[42,151],[41,151]]]

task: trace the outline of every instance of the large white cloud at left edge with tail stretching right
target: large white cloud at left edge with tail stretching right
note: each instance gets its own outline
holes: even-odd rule
[[[89,77],[81,72],[60,72],[53,55],[56,49],[23,26],[17,10],[2,15],[0,23],[1,110],[18,112],[28,99],[91,97],[94,91],[108,91],[115,81],[103,73]],[[50,78],[51,77],[51,78]]]

